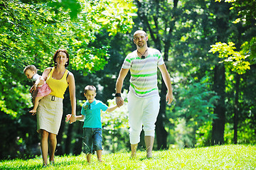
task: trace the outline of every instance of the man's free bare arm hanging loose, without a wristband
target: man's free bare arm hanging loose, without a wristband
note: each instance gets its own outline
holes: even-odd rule
[[[164,79],[164,83],[166,84],[166,87],[167,87],[166,102],[168,102],[168,104],[171,104],[171,101],[174,100],[174,95],[172,94],[172,89],[171,89],[171,77],[167,72],[165,64],[160,65],[159,69]]]

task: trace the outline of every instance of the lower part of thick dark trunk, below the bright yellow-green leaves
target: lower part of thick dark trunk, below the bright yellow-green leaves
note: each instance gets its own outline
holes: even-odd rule
[[[212,145],[223,145],[225,130],[225,67],[217,65],[214,69],[214,89],[220,96],[214,113],[218,118],[213,120]]]

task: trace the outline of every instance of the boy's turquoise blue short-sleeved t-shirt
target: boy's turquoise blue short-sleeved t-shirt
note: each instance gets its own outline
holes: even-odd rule
[[[86,101],[82,105],[81,114],[85,115],[84,125],[82,128],[102,128],[100,110],[106,111],[107,105],[95,99],[92,103]]]

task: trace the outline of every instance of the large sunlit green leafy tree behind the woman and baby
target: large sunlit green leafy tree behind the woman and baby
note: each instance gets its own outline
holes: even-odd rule
[[[43,71],[52,65],[53,53],[61,47],[70,53],[68,69],[78,70],[82,74],[103,69],[109,57],[107,44],[95,48],[90,46],[90,42],[95,41],[95,35],[103,29],[110,31],[110,35],[129,30],[136,11],[132,1],[62,2],[66,3],[45,0],[0,1],[0,77],[3,84],[1,88],[4,89],[0,92],[0,108],[4,114],[1,116],[14,120],[17,127],[21,125],[21,120],[24,121],[23,115],[31,106],[27,86],[30,84],[25,76],[21,77],[26,64],[33,63]],[[6,84],[9,81],[11,83]],[[16,98],[18,102],[14,102]],[[6,116],[6,113],[9,115]],[[21,135],[23,141],[27,141],[36,134]],[[17,133],[13,133],[13,137],[16,136]],[[63,141],[60,138],[58,142]],[[5,153],[1,152],[1,158]]]

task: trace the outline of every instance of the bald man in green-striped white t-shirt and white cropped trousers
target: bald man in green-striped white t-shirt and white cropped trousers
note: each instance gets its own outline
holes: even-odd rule
[[[154,128],[159,114],[160,101],[157,87],[157,67],[160,69],[161,76],[168,89],[166,101],[170,104],[174,99],[171,78],[167,72],[163,57],[159,50],[147,46],[147,40],[148,37],[143,30],[137,30],[134,33],[134,44],[137,45],[137,50],[134,50],[125,58],[116,84],[116,103],[120,107],[124,104],[121,96],[123,81],[130,70],[131,78],[127,99],[132,158],[136,157],[142,125],[145,133],[146,157],[152,157]]]

